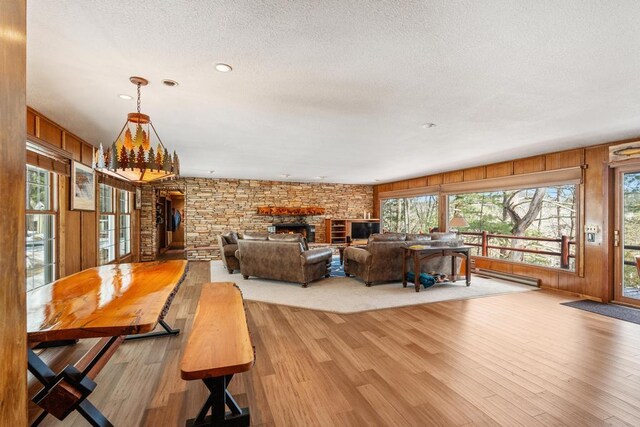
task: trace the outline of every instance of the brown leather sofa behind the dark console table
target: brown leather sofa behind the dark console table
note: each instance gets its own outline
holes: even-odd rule
[[[367,246],[358,248],[350,246],[344,251],[344,272],[348,276],[357,276],[367,286],[373,282],[390,282],[402,280],[402,248],[411,245],[446,245],[445,242],[456,240],[455,233],[404,234],[384,233],[372,234]],[[460,271],[460,260],[456,258],[456,273]],[[410,270],[413,270],[409,266]],[[450,273],[451,258],[432,258],[422,263],[421,272]]]

